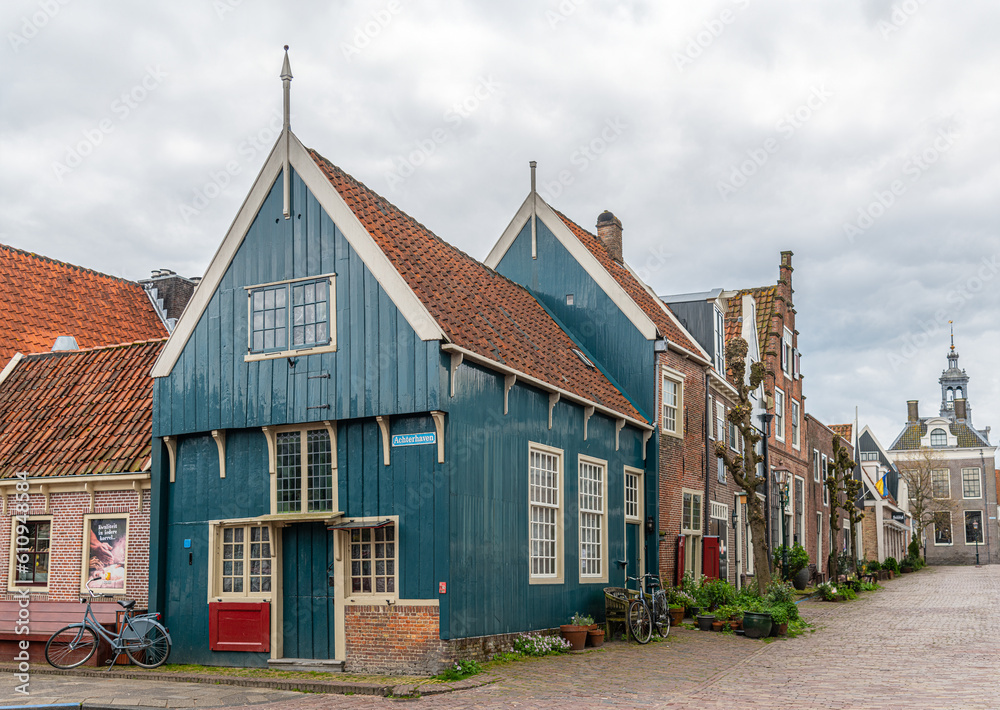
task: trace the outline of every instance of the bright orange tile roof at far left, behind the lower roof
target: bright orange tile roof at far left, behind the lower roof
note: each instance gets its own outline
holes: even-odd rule
[[[92,348],[166,334],[139,284],[0,244],[0,363],[60,335]]]

